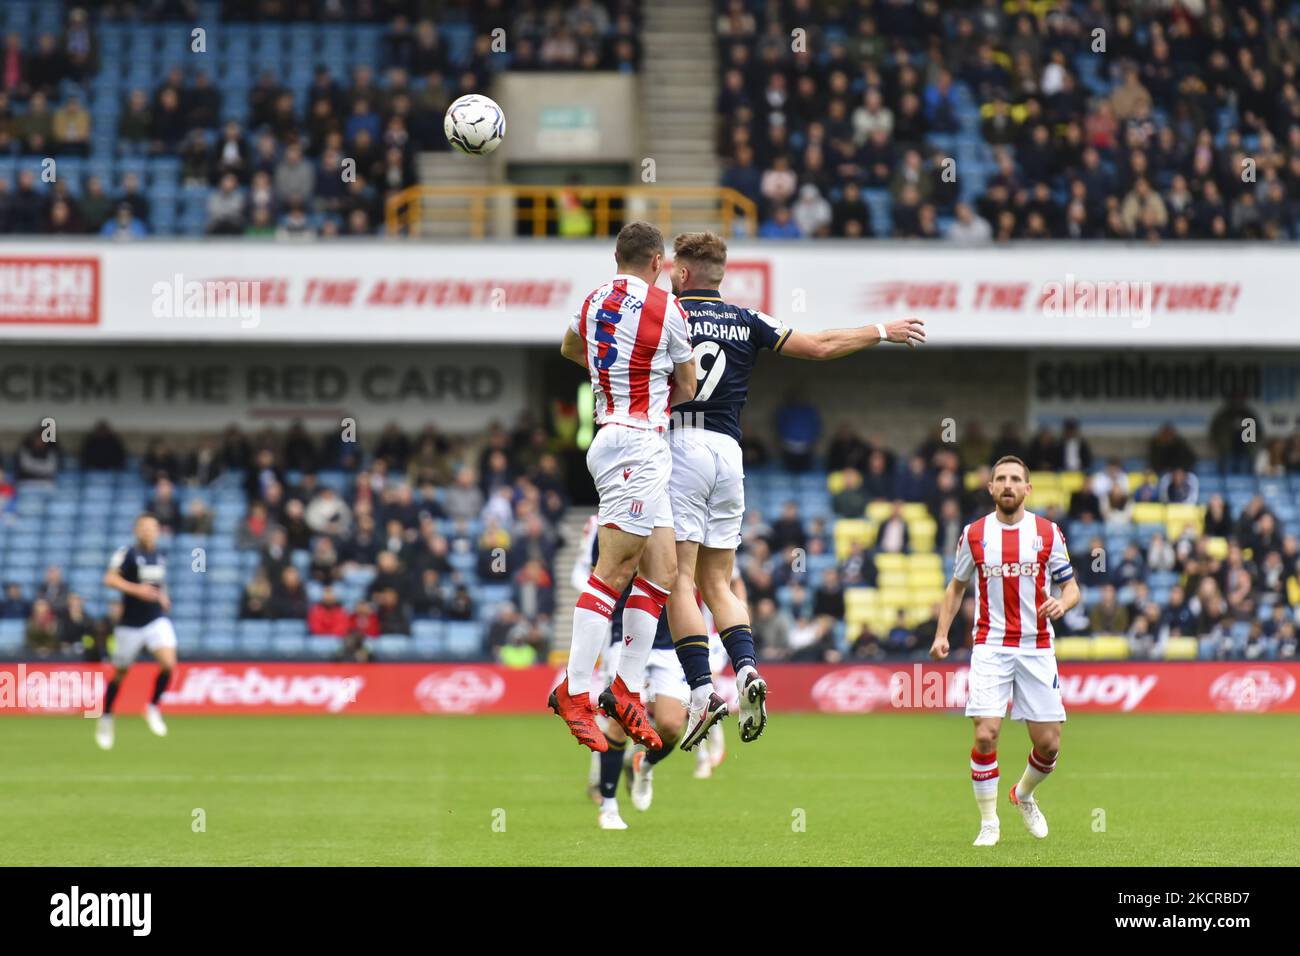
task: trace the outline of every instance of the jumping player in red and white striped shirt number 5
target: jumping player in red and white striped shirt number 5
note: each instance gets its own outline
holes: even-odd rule
[[[677,576],[668,411],[696,394],[686,313],[671,293],[655,286],[663,271],[663,233],[649,222],[628,222],[619,232],[614,260],[618,274],[586,297],[560,347],[592,376],[599,431],[586,467],[601,497],[599,554],[573,611],[568,672],[550,706],[578,743],[598,753],[608,750],[608,740],[595,723],[592,672],[610,640],[614,605],[629,581],[624,648],[618,676],[599,695],[601,708],[647,750],[663,748],[640,692]]]

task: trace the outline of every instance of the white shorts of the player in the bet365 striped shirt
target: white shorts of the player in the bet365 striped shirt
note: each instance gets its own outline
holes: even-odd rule
[[[966,688],[967,717],[1006,717],[1049,723],[1065,719],[1056,654],[1026,654],[976,644]]]

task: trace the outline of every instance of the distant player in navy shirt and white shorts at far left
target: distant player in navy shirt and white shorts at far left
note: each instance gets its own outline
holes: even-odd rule
[[[176,631],[166,613],[172,600],[166,596],[166,559],[157,550],[161,527],[159,519],[143,514],[135,519],[135,541],[118,548],[104,572],[104,585],[122,592],[122,619],[113,631],[113,680],[104,693],[104,715],[95,728],[95,743],[103,749],[113,747],[113,704],[142,649],[148,649],[159,663],[153,695],[144,708],[144,722],[160,737],[166,724],[159,700],[176,670]]]

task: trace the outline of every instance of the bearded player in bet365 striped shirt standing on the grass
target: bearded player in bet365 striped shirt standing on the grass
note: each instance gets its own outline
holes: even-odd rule
[[[1061,529],[1024,510],[1031,490],[1024,462],[1014,455],[997,460],[988,483],[996,507],[962,529],[953,580],[930,648],[936,661],[948,657],[948,628],[967,583],[974,580],[979,611],[971,633],[975,646],[966,715],[975,719],[971,783],[980,810],[976,847],[998,840],[997,735],[1009,702],[1011,719],[1026,722],[1032,743],[1028,765],[1010,799],[1034,836],[1048,835],[1034,791],[1056,767],[1065,721],[1052,622],[1079,604],[1079,584]],[[1061,587],[1060,597],[1052,597],[1052,584]]]

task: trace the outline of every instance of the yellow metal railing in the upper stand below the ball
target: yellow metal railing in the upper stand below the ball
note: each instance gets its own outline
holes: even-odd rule
[[[580,211],[566,215],[562,206]],[[672,224],[712,221],[723,235],[758,230],[758,209],[736,190],[720,186],[411,186],[389,196],[389,235],[424,235],[426,219],[468,226],[476,239],[607,237],[623,222],[647,219],[664,234]]]

